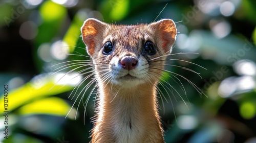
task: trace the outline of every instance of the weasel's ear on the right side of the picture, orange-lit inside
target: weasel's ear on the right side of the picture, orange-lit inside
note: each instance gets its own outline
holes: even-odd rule
[[[177,29],[175,23],[171,19],[162,19],[157,22],[153,22],[150,25],[156,35],[157,38],[160,38],[161,46],[165,52],[171,50],[177,35]]]

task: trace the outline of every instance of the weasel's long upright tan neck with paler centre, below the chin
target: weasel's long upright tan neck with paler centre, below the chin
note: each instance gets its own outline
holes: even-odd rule
[[[100,87],[104,89],[100,89],[92,142],[164,142],[157,113],[156,85]]]

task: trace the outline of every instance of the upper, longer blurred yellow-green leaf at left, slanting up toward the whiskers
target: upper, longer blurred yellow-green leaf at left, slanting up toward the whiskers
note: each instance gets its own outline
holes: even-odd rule
[[[39,75],[34,77],[30,82],[28,82],[24,86],[10,91],[8,95],[8,111],[12,111],[19,106],[31,102],[32,100],[44,98],[47,96],[53,96],[58,93],[62,93],[73,89],[73,86],[71,85],[55,85],[56,81],[54,81],[54,77],[55,76],[50,76],[47,74]],[[4,95],[2,95],[2,97],[3,96]],[[4,105],[4,98],[0,100],[0,104]],[[1,108],[1,111],[3,113],[4,108]]]

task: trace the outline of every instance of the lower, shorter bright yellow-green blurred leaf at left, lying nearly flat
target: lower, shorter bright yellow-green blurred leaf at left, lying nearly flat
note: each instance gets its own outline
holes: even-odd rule
[[[53,114],[66,116],[71,107],[60,98],[37,100],[18,109],[20,114]]]

